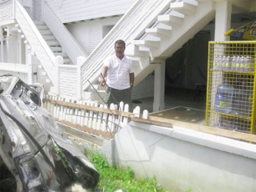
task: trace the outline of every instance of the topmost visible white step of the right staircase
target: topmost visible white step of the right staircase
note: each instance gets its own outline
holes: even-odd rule
[[[170,8],[184,15],[191,15],[196,12],[197,5],[188,2],[173,2],[171,3]]]

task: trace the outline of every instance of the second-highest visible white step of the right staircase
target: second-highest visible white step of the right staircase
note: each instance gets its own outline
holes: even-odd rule
[[[170,25],[171,27],[179,27],[183,24],[183,18],[183,14],[172,11],[170,15],[159,15],[158,22]]]

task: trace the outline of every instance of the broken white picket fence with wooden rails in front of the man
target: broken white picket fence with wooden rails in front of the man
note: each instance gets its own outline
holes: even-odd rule
[[[45,96],[43,108],[46,108],[56,121],[75,127],[90,134],[111,138],[131,118],[140,118],[140,108],[137,106],[133,113],[128,112],[128,104],[120,103],[119,109],[115,104],[110,108],[105,104]],[[143,118],[147,118],[148,111],[144,111]]]

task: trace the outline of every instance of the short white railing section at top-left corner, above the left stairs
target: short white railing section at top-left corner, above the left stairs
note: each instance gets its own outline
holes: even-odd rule
[[[0,3],[0,25],[6,25],[14,20],[14,1],[5,1]]]

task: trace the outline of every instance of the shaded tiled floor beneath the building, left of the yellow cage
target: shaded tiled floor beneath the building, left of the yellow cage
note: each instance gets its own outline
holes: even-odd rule
[[[196,97],[194,97],[196,95]],[[195,94],[193,90],[171,89],[165,92],[165,109],[153,112],[154,98],[135,100],[133,107],[141,107],[141,113],[148,110],[151,115],[161,118],[171,118],[178,121],[187,121],[204,124],[205,95]]]

